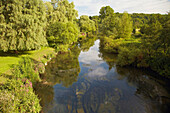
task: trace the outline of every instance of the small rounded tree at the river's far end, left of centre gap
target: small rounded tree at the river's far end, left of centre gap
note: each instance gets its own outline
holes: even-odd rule
[[[95,22],[90,20],[87,15],[80,16],[80,31],[94,32],[96,31]]]

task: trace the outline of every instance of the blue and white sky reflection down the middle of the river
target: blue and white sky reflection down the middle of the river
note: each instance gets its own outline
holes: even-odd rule
[[[132,113],[132,111],[135,113],[144,113],[147,111],[145,106],[152,109],[152,106],[154,106],[154,104],[150,104],[152,101],[144,97],[138,97],[142,94],[143,90],[146,90],[144,91],[145,94],[146,92],[148,93],[150,89],[144,87],[141,90],[142,92],[139,91],[139,94],[137,94],[137,90],[144,85],[142,84],[144,78],[141,79],[140,77],[142,76],[139,76],[140,79],[133,79],[138,73],[133,73],[132,70],[132,72],[124,72],[124,70],[122,70],[129,78],[123,75],[121,76],[120,73],[116,71],[116,67],[112,67],[109,70],[109,65],[98,56],[99,42],[99,40],[95,41],[95,45],[92,46],[88,52],[80,53],[79,65],[81,72],[76,82],[69,87],[64,87],[62,84],[56,84],[53,87],[55,93],[53,102],[47,105],[48,107],[44,109],[44,112],[67,113],[70,111],[77,113],[75,110],[90,110],[92,107],[94,110],[97,104],[100,105],[99,108],[102,110],[108,110],[107,112],[114,107],[117,108],[118,111],[120,110],[119,113]],[[131,78],[131,75],[134,74],[135,76]],[[141,74],[139,73],[139,75]],[[139,83],[134,80],[139,80]],[[132,83],[134,83],[134,85]],[[135,83],[138,85],[141,84],[141,86],[138,87]],[[155,94],[155,92],[151,94]],[[150,103],[145,103],[145,100]],[[152,106],[150,107],[150,105]],[[156,111],[159,110],[158,108]],[[92,113],[90,111],[86,112]]]

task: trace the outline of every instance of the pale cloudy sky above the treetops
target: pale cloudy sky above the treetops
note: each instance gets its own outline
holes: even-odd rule
[[[43,0],[51,1],[51,0]],[[74,2],[79,16],[99,15],[100,8],[111,6],[115,12],[128,13],[161,13],[170,11],[170,0],[68,0]]]

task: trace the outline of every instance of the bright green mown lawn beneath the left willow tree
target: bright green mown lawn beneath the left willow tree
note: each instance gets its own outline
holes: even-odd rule
[[[40,50],[24,51],[18,54],[0,52],[0,74],[10,74],[10,66],[17,64],[21,57],[28,56],[36,61],[45,61],[46,59],[43,56],[48,54],[55,54],[55,50],[44,47]]]

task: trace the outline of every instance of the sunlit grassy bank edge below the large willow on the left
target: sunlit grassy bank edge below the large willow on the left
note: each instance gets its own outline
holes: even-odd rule
[[[30,57],[36,62],[46,63],[51,58],[48,56],[56,56],[55,49],[43,47],[39,50],[24,51],[19,53],[3,53],[0,52],[0,84],[3,84],[7,78],[2,75],[11,75],[11,65],[18,64],[22,57]]]

